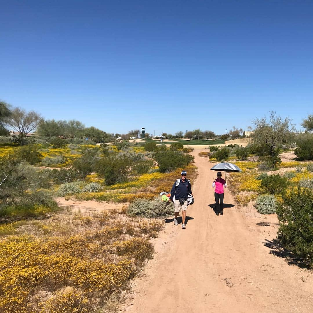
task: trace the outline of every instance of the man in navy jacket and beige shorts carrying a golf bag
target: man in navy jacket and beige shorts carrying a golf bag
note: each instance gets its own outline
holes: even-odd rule
[[[181,173],[182,178],[177,179],[172,187],[171,190],[171,197],[170,200],[173,201],[174,199],[174,205],[175,205],[175,216],[174,216],[174,225],[178,225],[177,216],[179,214],[179,211],[182,210],[182,229],[186,228],[186,209],[187,209],[187,199],[188,199],[188,193],[192,194],[191,192],[191,184],[190,180],[186,179],[187,172],[182,171]]]

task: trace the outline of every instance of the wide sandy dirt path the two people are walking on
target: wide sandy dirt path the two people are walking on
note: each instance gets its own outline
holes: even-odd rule
[[[313,273],[289,265],[273,241],[275,214],[239,208],[225,189],[223,216],[216,216],[212,164],[193,155],[198,178],[185,230],[168,220],[155,239],[155,258],[133,283],[122,310],[163,312],[312,312]],[[205,151],[205,150],[203,150]],[[270,226],[259,226],[267,222]]]

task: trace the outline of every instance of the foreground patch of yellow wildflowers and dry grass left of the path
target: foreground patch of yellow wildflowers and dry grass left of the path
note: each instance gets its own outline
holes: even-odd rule
[[[3,310],[116,312],[129,280],[153,257],[149,239],[164,226],[125,211],[68,209],[7,224],[0,240]]]

